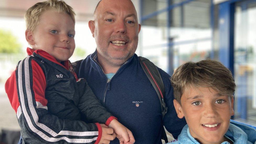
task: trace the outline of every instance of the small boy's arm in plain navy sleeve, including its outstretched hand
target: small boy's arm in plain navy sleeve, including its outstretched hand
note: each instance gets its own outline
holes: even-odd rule
[[[78,108],[82,115],[85,115],[88,122],[99,122],[114,129],[117,138],[120,142],[132,144],[135,142],[132,132],[124,125],[117,121],[99,102],[92,90],[85,82],[85,79],[81,79],[78,83],[79,99]]]

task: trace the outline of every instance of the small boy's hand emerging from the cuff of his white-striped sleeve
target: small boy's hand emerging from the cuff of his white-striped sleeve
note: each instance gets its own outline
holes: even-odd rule
[[[116,138],[116,134],[112,128],[109,128],[104,124],[100,124],[100,126],[102,128],[102,136],[99,144],[108,144],[110,141],[113,141]]]

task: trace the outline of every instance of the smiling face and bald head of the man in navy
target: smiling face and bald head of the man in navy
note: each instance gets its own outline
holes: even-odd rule
[[[98,58],[116,66],[122,65],[138,45],[140,25],[130,0],[103,0],[89,27],[97,44]]]

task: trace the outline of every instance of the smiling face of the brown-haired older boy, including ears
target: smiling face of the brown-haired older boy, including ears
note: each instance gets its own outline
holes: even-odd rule
[[[221,143],[234,115],[233,98],[220,95],[212,88],[189,88],[174,100],[179,118],[185,116],[191,136],[201,143]]]

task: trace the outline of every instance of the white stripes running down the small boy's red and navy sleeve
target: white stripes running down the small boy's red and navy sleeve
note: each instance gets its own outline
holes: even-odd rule
[[[36,134],[38,134],[40,137],[42,137],[44,140],[49,141],[49,142],[57,142],[60,140],[66,140],[67,142],[73,142],[73,143],[89,143],[92,141],[97,140],[98,137],[94,137],[91,139],[74,139],[74,138],[68,138],[68,137],[60,137],[60,138],[54,138],[57,135],[71,135],[71,136],[94,136],[94,135],[98,135],[98,131],[86,131],[86,132],[77,132],[77,131],[60,131],[58,134],[56,132],[54,132],[53,130],[51,130],[49,127],[47,127],[44,124],[41,124],[38,122],[38,115],[36,113],[35,107],[33,105],[33,100],[32,100],[32,93],[31,93],[31,89],[30,89],[30,77],[29,77],[29,57],[28,56],[25,59],[24,62],[24,70],[25,70],[25,87],[26,87],[26,94],[27,94],[27,98],[28,98],[28,105],[29,105],[29,109],[31,111],[33,120],[35,121],[35,124],[40,127],[41,129],[43,129],[44,131],[46,131],[47,133],[51,134],[53,137],[48,137],[47,135],[45,135],[42,131],[36,129],[36,127],[33,125],[30,116],[28,115],[28,112],[26,110],[25,107],[25,97],[23,94],[23,84],[22,84],[22,63],[23,60],[20,62],[19,67],[18,67],[18,86],[19,86],[19,95],[20,95],[20,101],[21,101],[21,105],[22,105],[22,111],[24,113],[25,119],[28,122],[29,128],[35,132]]]

